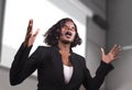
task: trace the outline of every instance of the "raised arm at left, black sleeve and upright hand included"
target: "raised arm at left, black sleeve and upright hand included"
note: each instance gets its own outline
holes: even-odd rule
[[[35,34],[33,34],[32,27],[33,27],[33,20],[30,20],[25,40],[21,45],[20,49],[18,50],[16,55],[14,56],[14,60],[10,69],[10,83],[12,86],[22,82],[36,68],[36,57],[29,58],[30,50],[38,33],[37,30]]]

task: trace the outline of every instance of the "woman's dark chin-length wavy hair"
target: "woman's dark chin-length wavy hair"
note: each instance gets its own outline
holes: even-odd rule
[[[57,46],[58,44],[58,37],[61,35],[61,30],[62,27],[65,25],[66,22],[73,22],[74,21],[69,18],[65,18],[65,19],[62,19],[59,20],[56,24],[54,24],[52,27],[50,27],[47,30],[47,32],[45,33],[45,43],[47,45],[51,45],[51,46]],[[81,38],[79,37],[79,34],[77,32],[77,26],[76,24],[74,23],[75,25],[75,31],[76,31],[76,36],[75,36],[75,40],[74,42],[72,43],[70,47],[75,47],[76,45],[80,45],[81,44]]]

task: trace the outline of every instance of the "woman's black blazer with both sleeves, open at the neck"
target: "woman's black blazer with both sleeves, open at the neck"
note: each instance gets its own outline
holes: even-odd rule
[[[69,57],[74,67],[72,79],[65,83],[63,63],[57,47],[38,46],[29,57],[32,47],[21,45],[10,69],[10,83],[21,83],[37,69],[37,90],[98,90],[106,75],[113,69],[112,65],[100,61],[92,78],[86,67],[85,58],[72,52]]]

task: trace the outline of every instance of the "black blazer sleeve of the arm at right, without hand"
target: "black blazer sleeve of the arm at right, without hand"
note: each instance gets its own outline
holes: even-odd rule
[[[86,63],[85,63],[86,65]],[[86,90],[99,90],[101,87],[105,77],[113,69],[113,66],[111,64],[106,64],[102,60],[100,61],[100,66],[98,67],[96,71],[96,76],[91,77],[88,68],[85,66],[85,80],[84,80],[84,87]]]

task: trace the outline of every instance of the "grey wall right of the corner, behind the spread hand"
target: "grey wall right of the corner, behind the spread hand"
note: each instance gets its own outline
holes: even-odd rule
[[[119,44],[123,47],[114,70],[107,77],[106,90],[132,89],[132,0],[109,0],[108,47]]]

